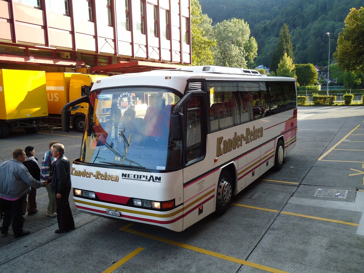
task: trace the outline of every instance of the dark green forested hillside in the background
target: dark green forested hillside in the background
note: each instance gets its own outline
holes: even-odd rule
[[[328,35],[330,58],[339,32],[351,8],[364,7],[364,0],[199,0],[202,13],[213,24],[231,18],[243,19],[258,43],[256,64],[270,65],[277,47],[279,31],[288,26],[295,63],[327,65]]]

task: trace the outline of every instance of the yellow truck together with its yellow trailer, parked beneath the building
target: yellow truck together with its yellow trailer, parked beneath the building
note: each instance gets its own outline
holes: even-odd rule
[[[92,83],[102,77],[107,76],[0,69],[0,138],[10,130],[36,133],[60,126],[64,104],[87,95]],[[83,131],[87,104],[71,110],[72,127]]]

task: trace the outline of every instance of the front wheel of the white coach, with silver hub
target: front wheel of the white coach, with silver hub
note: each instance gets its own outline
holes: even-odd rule
[[[231,175],[223,170],[219,176],[216,194],[215,214],[222,215],[228,209],[233,195]]]

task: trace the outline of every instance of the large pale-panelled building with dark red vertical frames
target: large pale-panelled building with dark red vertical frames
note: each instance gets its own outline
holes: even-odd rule
[[[189,0],[0,0],[0,68],[171,68],[191,63],[190,29]]]

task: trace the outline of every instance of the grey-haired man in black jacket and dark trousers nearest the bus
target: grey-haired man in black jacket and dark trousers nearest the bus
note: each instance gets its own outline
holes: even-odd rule
[[[47,180],[51,184],[52,194],[56,195],[58,229],[55,233],[65,233],[75,229],[68,197],[71,191],[70,161],[63,155],[64,146],[56,143],[51,148],[52,156],[57,158],[53,174]]]

